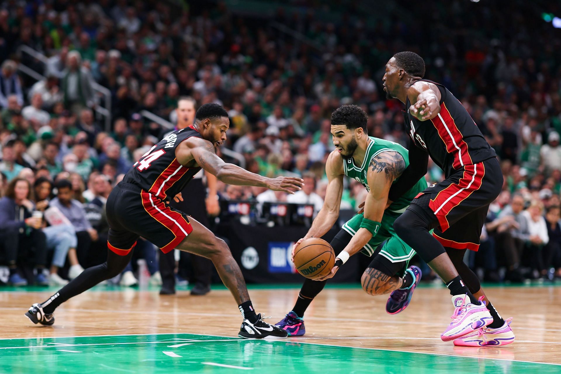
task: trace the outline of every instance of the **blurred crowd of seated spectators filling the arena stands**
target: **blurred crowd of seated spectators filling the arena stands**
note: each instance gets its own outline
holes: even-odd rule
[[[182,96],[228,110],[224,146],[243,162],[228,160],[266,176],[306,179],[293,196],[220,184],[221,198],[319,210],[335,108],[360,105],[371,136],[407,144],[402,105],[385,100],[380,82],[394,53],[413,50],[425,58],[426,77],[462,101],[502,163],[504,192],[490,207],[482,250],[470,254],[470,265],[488,280],[561,275],[561,31],[540,17],[561,9],[499,3],[504,7],[406,1],[403,8],[367,8],[293,0],[267,13],[234,11],[226,2],[0,2],[0,56],[7,57],[0,71],[0,236],[25,248],[4,248],[0,262],[16,269],[18,258],[33,258],[27,270],[38,283],[48,280],[42,274],[49,267],[60,275],[50,278],[63,283],[103,261],[105,198],[168,131],[139,113],[174,123]],[[110,128],[96,110],[105,108],[96,85],[111,92]],[[438,182],[442,170],[431,164],[426,178]],[[364,195],[360,183],[347,181],[342,207],[357,209]],[[33,211],[50,207],[72,229],[49,233]]]

